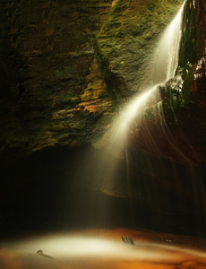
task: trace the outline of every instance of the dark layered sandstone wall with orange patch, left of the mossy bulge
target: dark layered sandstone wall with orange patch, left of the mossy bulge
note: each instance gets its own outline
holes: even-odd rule
[[[2,150],[95,142],[114,110],[93,50],[110,1],[0,5]]]

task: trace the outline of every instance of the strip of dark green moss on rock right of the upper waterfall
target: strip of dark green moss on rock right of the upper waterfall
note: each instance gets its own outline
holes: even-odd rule
[[[202,46],[199,44],[202,39],[197,37],[197,11],[192,2],[187,0],[185,3],[185,10],[182,24],[182,40],[179,52],[179,64],[177,74],[179,74],[183,81],[183,88],[181,93],[176,92],[176,89],[167,87],[165,101],[165,109],[168,113],[169,108],[176,111],[176,115],[180,111],[187,108],[193,101],[193,74],[195,72],[196,63],[198,61],[199,50]]]

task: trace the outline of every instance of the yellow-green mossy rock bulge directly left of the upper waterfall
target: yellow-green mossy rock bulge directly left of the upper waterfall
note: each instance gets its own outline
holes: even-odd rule
[[[117,1],[96,39],[102,73],[119,99],[152,83],[150,65],[182,1]]]

